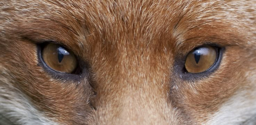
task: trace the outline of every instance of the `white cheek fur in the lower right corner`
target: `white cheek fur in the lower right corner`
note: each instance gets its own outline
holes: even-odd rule
[[[252,76],[253,78],[256,75]],[[251,80],[254,83],[254,80]],[[213,115],[209,115],[210,120],[207,125],[251,125],[255,124],[256,116],[256,91],[255,84],[244,86],[236,92],[222,107]],[[250,120],[253,118],[253,121]],[[250,121],[246,122],[245,121]]]

